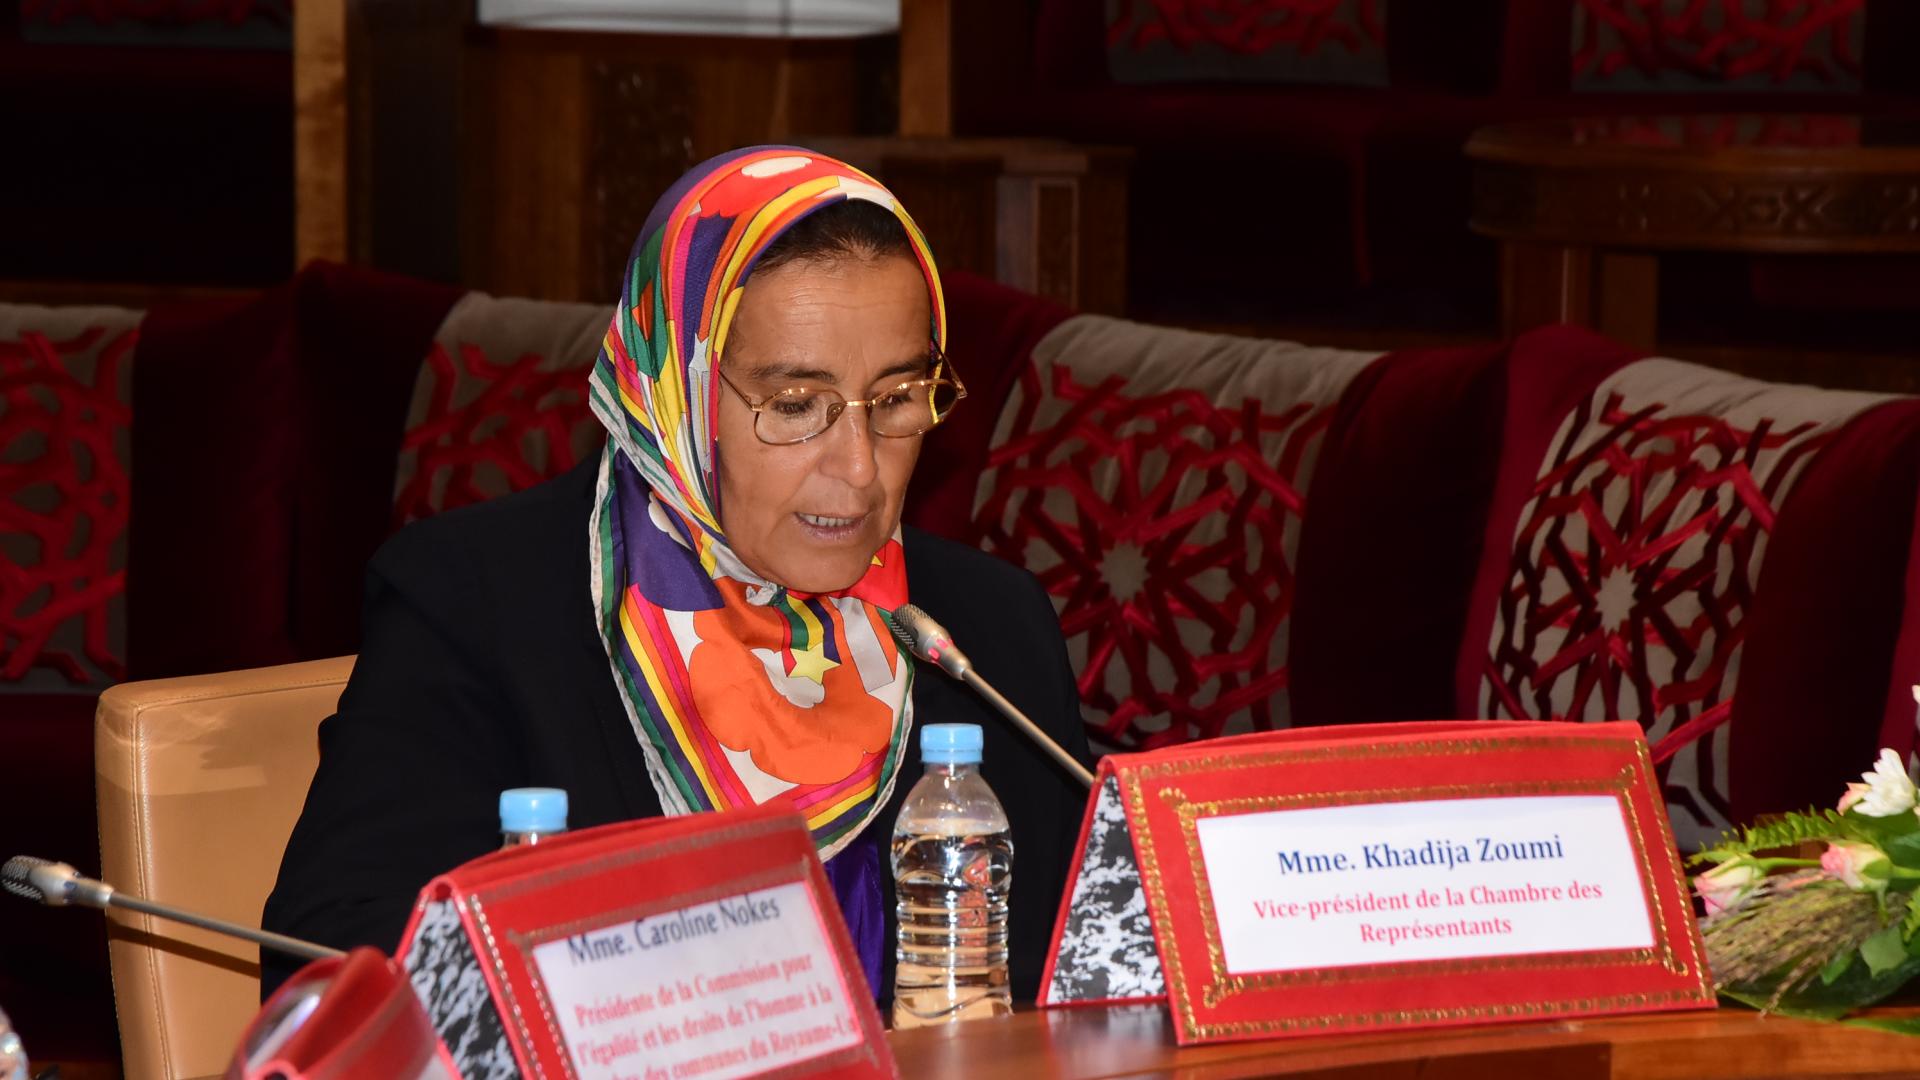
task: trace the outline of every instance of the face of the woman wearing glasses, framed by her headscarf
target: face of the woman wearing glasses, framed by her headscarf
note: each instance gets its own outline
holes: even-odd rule
[[[906,258],[801,259],[747,279],[722,371],[753,402],[789,386],[866,400],[927,375],[927,284]],[[900,521],[920,436],[879,438],[866,409],[793,446],[755,436],[720,396],[720,527],[760,577],[799,592],[849,588]]]

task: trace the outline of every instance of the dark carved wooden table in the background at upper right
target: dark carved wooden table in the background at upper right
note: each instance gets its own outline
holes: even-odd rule
[[[1920,125],[1855,115],[1584,117],[1467,142],[1509,334],[1651,348],[1657,252],[1916,254]]]

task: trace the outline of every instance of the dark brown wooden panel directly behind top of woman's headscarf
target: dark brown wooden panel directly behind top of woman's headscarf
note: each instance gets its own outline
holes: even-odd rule
[[[854,131],[854,42],[501,31],[476,79],[468,281],[607,300],[653,200],[689,165],[797,133]]]

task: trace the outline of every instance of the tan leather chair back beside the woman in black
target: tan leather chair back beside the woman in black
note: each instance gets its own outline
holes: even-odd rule
[[[108,690],[94,719],[106,880],[257,926],[351,671],[338,657]],[[253,945],[111,911],[108,955],[127,1076],[227,1070],[259,1011]]]

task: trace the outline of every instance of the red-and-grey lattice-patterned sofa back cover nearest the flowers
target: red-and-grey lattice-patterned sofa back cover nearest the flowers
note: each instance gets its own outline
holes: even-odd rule
[[[1837,432],[1887,400],[1670,359],[1603,379],[1538,459],[1475,715],[1638,721],[1682,844],[1726,828],[1728,721],[1782,507]]]

